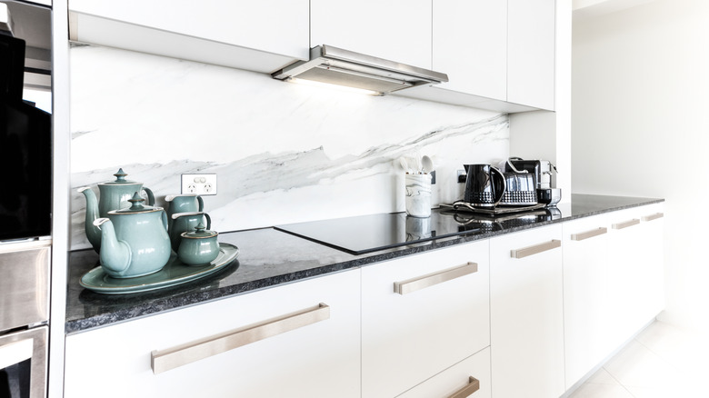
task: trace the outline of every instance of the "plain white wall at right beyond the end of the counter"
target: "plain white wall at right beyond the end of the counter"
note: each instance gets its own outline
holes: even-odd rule
[[[663,316],[709,329],[709,2],[574,21],[573,40],[574,192],[666,199]]]

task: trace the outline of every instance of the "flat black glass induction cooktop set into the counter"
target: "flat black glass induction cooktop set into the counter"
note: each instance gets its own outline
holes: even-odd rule
[[[349,254],[372,253],[480,231],[476,226],[458,223],[452,214],[436,210],[427,218],[411,217],[405,213],[369,214],[277,225],[275,229]]]

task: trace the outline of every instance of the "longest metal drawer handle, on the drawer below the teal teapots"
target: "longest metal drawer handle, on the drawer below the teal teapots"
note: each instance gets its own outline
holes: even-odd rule
[[[217,353],[225,353],[243,345],[255,343],[259,340],[273,337],[276,334],[289,332],[329,318],[330,307],[325,303],[320,303],[315,308],[288,313],[265,323],[216,334],[165,350],[153,351],[150,353],[150,364],[154,374],[163,373],[178,366],[208,358]]]

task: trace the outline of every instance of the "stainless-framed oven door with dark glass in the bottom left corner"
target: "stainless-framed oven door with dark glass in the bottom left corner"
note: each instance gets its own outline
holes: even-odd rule
[[[0,336],[0,397],[45,397],[47,329]]]

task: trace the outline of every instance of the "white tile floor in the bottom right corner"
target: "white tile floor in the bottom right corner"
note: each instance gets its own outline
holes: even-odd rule
[[[569,398],[709,398],[707,337],[654,322]]]

